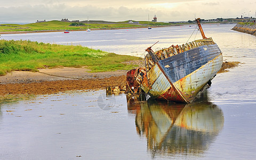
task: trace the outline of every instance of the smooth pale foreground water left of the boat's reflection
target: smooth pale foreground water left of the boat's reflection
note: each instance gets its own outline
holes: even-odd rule
[[[1,105],[1,159],[150,158],[134,117],[127,115],[125,95],[102,110],[97,104],[101,93],[42,95]]]

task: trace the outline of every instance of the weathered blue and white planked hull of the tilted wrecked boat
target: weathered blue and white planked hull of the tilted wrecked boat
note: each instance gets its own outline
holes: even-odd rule
[[[151,98],[188,103],[210,85],[222,61],[217,44],[202,45],[159,60],[147,70],[141,88]]]

